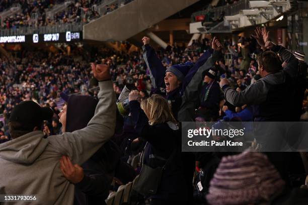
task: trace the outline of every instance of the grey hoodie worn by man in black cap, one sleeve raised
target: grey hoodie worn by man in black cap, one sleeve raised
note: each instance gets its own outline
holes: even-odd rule
[[[0,194],[35,194],[37,199],[31,204],[73,204],[74,185],[62,175],[61,156],[83,164],[114,134],[112,82],[99,82],[99,86],[95,115],[86,128],[47,139],[34,131],[0,144]]]

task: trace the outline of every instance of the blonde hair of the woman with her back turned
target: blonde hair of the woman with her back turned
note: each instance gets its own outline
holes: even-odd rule
[[[148,118],[150,125],[161,124],[168,121],[177,123],[176,119],[172,115],[171,108],[167,100],[158,94],[141,101],[141,109],[144,111]]]

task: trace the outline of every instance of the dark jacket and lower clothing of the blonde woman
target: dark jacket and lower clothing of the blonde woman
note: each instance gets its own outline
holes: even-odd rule
[[[146,118],[136,100],[129,102],[133,119],[144,122]],[[139,114],[135,118],[135,114]],[[140,125],[134,122],[135,125]],[[141,139],[147,141],[144,149],[144,163],[152,168],[163,167],[168,159],[157,194],[150,198],[169,201],[188,201],[195,166],[194,156],[181,152],[181,130],[173,130],[168,123],[136,127]]]

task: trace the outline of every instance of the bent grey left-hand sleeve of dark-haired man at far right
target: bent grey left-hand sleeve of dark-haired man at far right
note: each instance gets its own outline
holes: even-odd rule
[[[223,86],[223,92],[225,99],[234,106],[257,105],[265,101],[268,88],[266,87],[266,82],[260,79],[241,92],[229,86]]]

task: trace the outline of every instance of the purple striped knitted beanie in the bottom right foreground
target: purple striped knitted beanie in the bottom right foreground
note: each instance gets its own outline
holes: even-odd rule
[[[245,151],[222,158],[206,198],[212,205],[255,204],[268,201],[284,184],[266,155]]]

